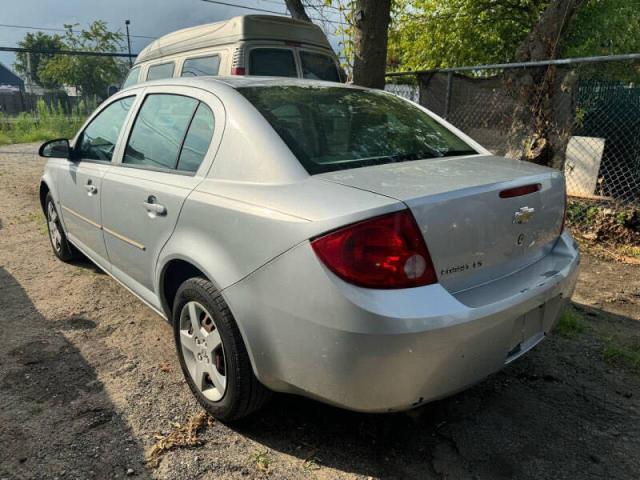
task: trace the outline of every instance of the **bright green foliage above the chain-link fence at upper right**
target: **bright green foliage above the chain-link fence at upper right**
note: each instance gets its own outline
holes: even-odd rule
[[[502,63],[516,50],[550,0],[395,0],[389,31],[393,70]],[[640,0],[585,0],[560,39],[559,57],[640,51]],[[604,75],[631,65],[599,67]],[[612,73],[612,70],[615,72]],[[635,68],[637,72],[637,63]]]

